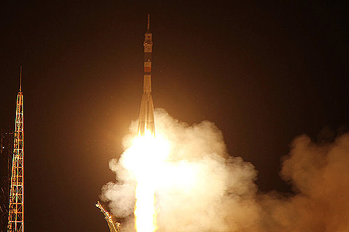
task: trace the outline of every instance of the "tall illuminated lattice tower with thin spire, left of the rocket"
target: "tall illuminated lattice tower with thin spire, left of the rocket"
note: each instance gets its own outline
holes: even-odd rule
[[[22,65],[20,68],[20,91],[17,94],[15,139],[11,171],[10,204],[8,207],[8,231],[24,231],[24,127]]]

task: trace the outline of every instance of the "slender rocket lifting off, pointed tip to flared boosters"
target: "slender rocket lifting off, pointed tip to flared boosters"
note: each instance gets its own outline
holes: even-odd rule
[[[153,41],[149,30],[150,15],[148,14],[147,31],[144,33],[144,79],[143,95],[140,104],[140,117],[138,118],[138,136],[146,133],[155,136],[154,106],[151,97],[151,52]]]

